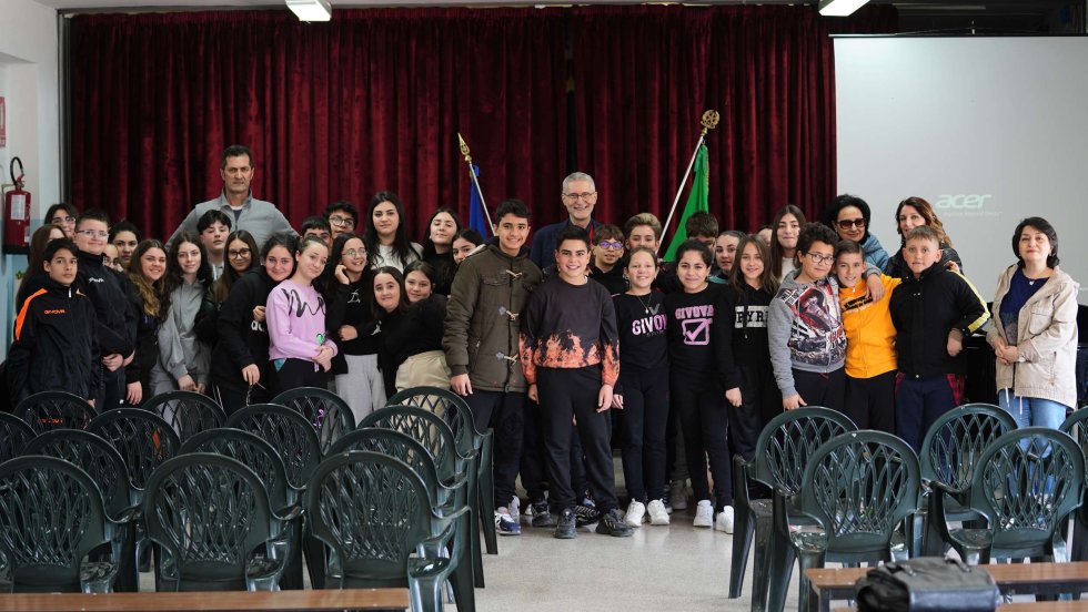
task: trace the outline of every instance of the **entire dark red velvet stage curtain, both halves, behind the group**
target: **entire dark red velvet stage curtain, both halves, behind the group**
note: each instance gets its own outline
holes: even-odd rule
[[[99,14],[71,23],[71,201],[168,235],[221,188],[219,155],[254,150],[253,192],[298,224],[334,200],[397,192],[413,235],[439,205],[467,220],[456,132],[492,207],[563,216],[591,173],[597,218],[664,221],[707,108],[711,206],[754,230],[835,194],[829,32],[895,30],[876,7],[338,10]],[[567,53],[571,61],[567,62]],[[568,92],[573,83],[573,92]],[[568,116],[567,103],[573,112]],[[567,139],[573,140],[568,143]]]

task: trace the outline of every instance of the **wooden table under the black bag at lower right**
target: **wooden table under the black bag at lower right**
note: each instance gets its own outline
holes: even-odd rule
[[[994,577],[998,589],[1006,595],[1040,595],[1079,593],[1088,591],[1088,561],[1072,563],[996,563],[986,565],[986,571]],[[854,583],[865,575],[869,568],[812,569],[805,572],[816,595],[820,612],[828,612],[832,600],[845,600],[854,596]],[[1079,604],[1077,610],[1085,612],[1088,603],[1056,602]],[[1003,605],[1003,610],[1013,610],[1011,605]],[[1049,609],[1048,609],[1049,610]],[[1058,610],[1058,609],[1055,609]],[[1061,610],[1072,610],[1061,609]],[[1021,611],[1024,612],[1024,611]]]

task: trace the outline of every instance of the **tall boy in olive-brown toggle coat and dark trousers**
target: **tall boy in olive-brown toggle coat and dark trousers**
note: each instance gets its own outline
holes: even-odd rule
[[[517,360],[517,316],[542,277],[524,248],[528,215],[518,200],[498,205],[497,239],[457,268],[442,338],[451,387],[472,407],[477,431],[495,430],[495,524],[506,536],[521,532],[510,512],[527,390]]]

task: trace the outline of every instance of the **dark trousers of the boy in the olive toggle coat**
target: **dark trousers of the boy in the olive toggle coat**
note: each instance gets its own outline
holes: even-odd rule
[[[517,467],[522,460],[522,430],[525,426],[524,391],[474,390],[465,398],[472,408],[476,431],[494,430],[495,508],[506,508],[516,490]]]

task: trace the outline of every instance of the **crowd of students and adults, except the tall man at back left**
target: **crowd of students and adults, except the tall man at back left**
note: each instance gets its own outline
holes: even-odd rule
[[[686,494],[667,482],[684,491],[685,478],[693,524],[732,533],[732,457],[750,459],[784,409],[838,409],[917,449],[961,402],[964,339],[989,313],[925,200],[899,204],[890,256],[868,205],[843,195],[824,223],[787,205],[755,234],[692,215],[667,263],[654,215],[600,224],[595,200],[592,177],[567,176],[570,218],[531,249],[517,200],[497,206],[490,241],[439,208],[422,244],[390,192],[361,234],[356,207],[336,202],[263,244],[216,207],[164,245],[56,205],[20,288],[12,400],[62,389],[105,409],[189,389],[230,412],[329,386],[361,420],[397,390],[452,388],[495,430],[500,533],[521,531],[520,476],[531,523],[566,539],[594,522],[617,537],[668,524]],[[1057,243],[1040,217],[1017,226],[987,335],[1001,405],[1054,427],[1076,402],[1078,292]]]

